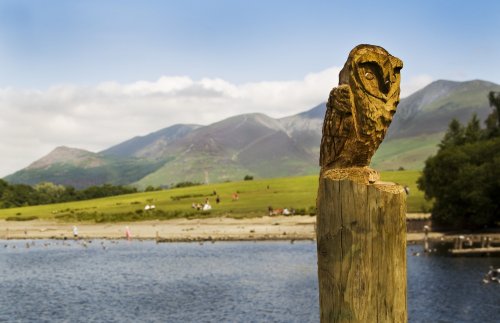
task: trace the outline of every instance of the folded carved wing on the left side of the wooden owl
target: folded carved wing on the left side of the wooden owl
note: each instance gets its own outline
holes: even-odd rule
[[[352,94],[347,84],[330,92],[321,138],[320,166],[328,167],[340,156],[347,139],[354,135]]]

